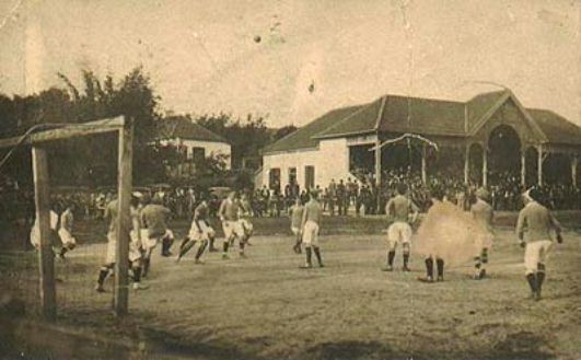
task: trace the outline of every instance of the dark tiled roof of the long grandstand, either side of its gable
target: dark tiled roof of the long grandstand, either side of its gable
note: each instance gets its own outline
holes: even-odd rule
[[[384,95],[372,103],[326,113],[264,151],[292,151],[316,148],[325,138],[374,132],[416,132],[422,135],[466,137],[469,130],[509,90],[483,93],[467,102]],[[544,109],[526,109],[549,142],[581,144],[581,128],[563,117]]]

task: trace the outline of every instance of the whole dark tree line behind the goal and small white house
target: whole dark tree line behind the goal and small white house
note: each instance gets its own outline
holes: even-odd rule
[[[82,71],[82,86],[58,74],[61,86],[54,86],[26,96],[0,93],[0,137],[20,136],[39,124],[59,126],[80,124],[100,118],[128,116],[135,121],[133,179],[136,184],[170,182],[167,165],[182,161],[182,154],[159,141],[160,121],[164,120],[161,97],[150,77],[141,67],[132,69],[119,80],[112,76],[98,79],[89,70]],[[240,169],[246,156],[258,156],[268,143],[295,130],[293,126],[270,129],[265,116],[248,114],[235,118],[226,113],[191,116],[196,121],[225,138],[232,146],[232,166]],[[112,186],[117,181],[117,139],[114,135],[98,135],[58,141],[49,146],[49,172],[54,185]],[[5,154],[5,150],[1,156]],[[204,159],[200,176],[228,176],[217,165],[220,159]],[[0,169],[21,184],[31,184],[30,149],[16,149]],[[25,165],[24,165],[25,164]],[[24,166],[23,166],[24,165]]]

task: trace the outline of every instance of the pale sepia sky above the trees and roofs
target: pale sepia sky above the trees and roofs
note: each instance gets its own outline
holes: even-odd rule
[[[466,101],[499,85],[581,125],[581,1],[0,0],[1,93],[136,66],[163,111],[274,127],[383,94]]]

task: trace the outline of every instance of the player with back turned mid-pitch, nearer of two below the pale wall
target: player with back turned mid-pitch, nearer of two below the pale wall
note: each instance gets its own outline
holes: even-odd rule
[[[317,197],[318,196],[315,191],[311,191],[311,200],[309,200],[304,207],[303,219],[301,221],[304,252],[306,254],[306,263],[301,267],[304,269],[313,267],[311,260],[313,252],[315,253],[318,266],[324,267],[323,259],[321,258],[321,249],[318,247],[318,231],[323,217],[323,209],[317,201]]]

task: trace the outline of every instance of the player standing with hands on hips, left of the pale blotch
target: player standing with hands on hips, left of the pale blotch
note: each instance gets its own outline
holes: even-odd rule
[[[387,229],[387,242],[390,249],[387,252],[387,264],[383,271],[393,271],[395,249],[397,244],[402,244],[404,266],[403,271],[410,271],[407,266],[409,260],[409,247],[411,241],[411,227],[418,218],[419,209],[407,196],[407,185],[399,183],[397,185],[397,195],[390,199],[385,206],[387,219],[392,222]],[[410,217],[411,214],[411,217]]]

